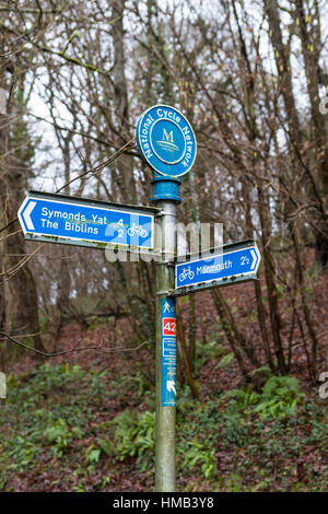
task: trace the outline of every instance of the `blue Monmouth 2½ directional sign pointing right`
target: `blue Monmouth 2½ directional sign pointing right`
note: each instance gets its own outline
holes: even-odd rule
[[[180,292],[194,291],[255,279],[259,262],[260,254],[254,242],[227,245],[213,255],[176,264],[175,288]]]

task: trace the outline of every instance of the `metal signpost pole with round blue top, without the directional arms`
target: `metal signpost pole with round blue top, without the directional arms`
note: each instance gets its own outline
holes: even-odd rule
[[[197,143],[189,121],[177,109],[155,105],[137,125],[137,144],[154,173],[152,202],[162,209],[162,258],[156,265],[156,491],[175,491],[176,414],[176,300],[174,272],[168,262],[176,256],[176,205],[179,177],[196,159]],[[169,312],[168,312],[169,311]]]

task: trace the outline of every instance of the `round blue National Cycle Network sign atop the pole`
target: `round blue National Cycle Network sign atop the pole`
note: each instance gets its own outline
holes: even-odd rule
[[[169,177],[188,173],[197,143],[189,121],[174,107],[155,105],[137,124],[137,144],[149,166]]]

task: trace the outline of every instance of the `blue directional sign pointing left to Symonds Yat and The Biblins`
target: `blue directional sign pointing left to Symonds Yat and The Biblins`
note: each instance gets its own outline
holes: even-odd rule
[[[19,210],[19,220],[30,240],[152,250],[156,211],[152,207],[32,191]]]

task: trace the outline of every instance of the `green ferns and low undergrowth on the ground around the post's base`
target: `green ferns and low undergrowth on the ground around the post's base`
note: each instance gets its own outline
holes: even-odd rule
[[[8,382],[0,490],[15,490],[20,477],[31,477],[34,490],[44,480],[54,490],[119,490],[122,474],[153,484],[153,386],[140,370],[43,365]],[[326,491],[327,447],[327,401],[306,398],[295,377],[269,376],[260,393],[248,386],[202,400],[179,390],[181,491]]]

